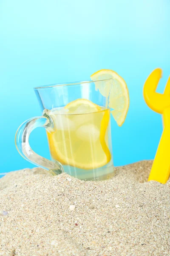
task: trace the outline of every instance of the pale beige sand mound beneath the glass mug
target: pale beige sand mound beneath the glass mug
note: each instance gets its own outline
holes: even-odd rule
[[[0,255],[170,255],[170,181],[147,181],[152,161],[81,181],[42,169],[0,179]]]

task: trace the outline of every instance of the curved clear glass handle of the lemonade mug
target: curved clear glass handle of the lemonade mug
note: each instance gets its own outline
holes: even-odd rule
[[[52,175],[58,175],[64,172],[62,164],[55,160],[52,162],[39,154],[35,153],[29,145],[29,135],[37,127],[53,128],[54,123],[50,116],[37,116],[23,122],[15,135],[15,145],[20,155],[30,163],[34,163],[51,172]]]

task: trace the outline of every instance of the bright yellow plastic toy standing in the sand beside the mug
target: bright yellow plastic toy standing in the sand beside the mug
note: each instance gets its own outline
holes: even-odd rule
[[[162,76],[162,70],[153,70],[144,84],[144,100],[157,113],[163,115],[164,130],[150,171],[149,180],[165,184],[170,177],[170,77],[164,93],[157,93],[156,87]]]

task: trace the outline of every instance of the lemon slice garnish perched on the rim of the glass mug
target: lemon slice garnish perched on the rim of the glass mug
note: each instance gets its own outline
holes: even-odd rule
[[[113,79],[113,84],[106,81],[97,83],[96,80]],[[129,108],[129,92],[125,80],[113,70],[99,70],[91,75],[91,80],[96,81],[96,90],[108,97],[108,107],[119,126],[125,122]]]

